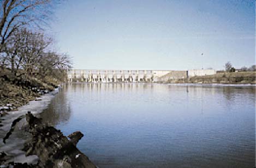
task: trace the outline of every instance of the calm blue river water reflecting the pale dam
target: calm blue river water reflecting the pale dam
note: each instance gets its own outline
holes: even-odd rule
[[[41,117],[99,167],[255,166],[255,86],[73,83]]]

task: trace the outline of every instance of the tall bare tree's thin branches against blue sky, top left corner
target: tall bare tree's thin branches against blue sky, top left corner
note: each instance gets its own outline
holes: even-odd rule
[[[44,23],[51,0],[2,0],[0,4],[0,52],[15,30]]]

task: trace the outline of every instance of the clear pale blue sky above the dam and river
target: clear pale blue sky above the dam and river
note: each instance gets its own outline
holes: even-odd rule
[[[74,69],[255,64],[255,0],[69,0],[55,17],[51,34]]]

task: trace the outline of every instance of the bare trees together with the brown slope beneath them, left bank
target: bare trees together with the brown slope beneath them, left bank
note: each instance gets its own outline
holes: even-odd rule
[[[0,111],[14,110],[64,82],[71,66],[53,49],[44,28],[56,1],[3,0],[0,4]]]

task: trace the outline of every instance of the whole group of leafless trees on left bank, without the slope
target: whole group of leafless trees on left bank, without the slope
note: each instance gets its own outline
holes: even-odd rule
[[[52,48],[43,27],[56,1],[3,0],[0,6],[0,72],[63,80],[71,62]],[[45,25],[44,25],[45,24]]]

